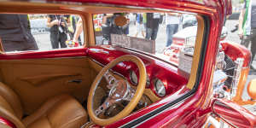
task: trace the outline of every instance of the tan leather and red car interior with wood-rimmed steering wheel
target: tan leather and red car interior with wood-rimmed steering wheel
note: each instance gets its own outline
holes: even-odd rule
[[[111,125],[166,97],[175,99],[177,93],[184,94],[195,84],[204,31],[200,15],[193,15],[198,24],[193,50],[189,51],[192,55],[181,54],[179,57],[185,58],[184,61],[175,64],[161,55],[163,49],[156,49],[160,47],[159,40],[149,45],[147,41],[151,41],[147,39],[130,38],[132,46],[127,47],[125,41],[129,36],[124,39],[116,34],[111,35],[107,44],[104,41],[97,44],[93,15],[184,12],[95,4],[6,2],[0,4],[0,13],[72,14],[83,20],[84,45],[77,49],[1,51],[0,117],[18,128]],[[127,22],[126,18],[120,19],[119,22]],[[138,43],[144,43],[145,49],[137,47]]]

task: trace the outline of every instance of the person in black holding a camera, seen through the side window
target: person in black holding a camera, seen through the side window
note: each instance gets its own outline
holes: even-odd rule
[[[49,36],[52,49],[67,48],[67,29],[65,25],[65,18],[68,19],[68,15],[48,15],[47,26],[49,29]]]

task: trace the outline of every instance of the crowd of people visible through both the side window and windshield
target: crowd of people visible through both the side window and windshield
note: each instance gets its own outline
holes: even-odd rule
[[[37,50],[38,44],[31,33],[29,15],[0,15],[0,37],[4,51]],[[129,34],[129,18],[125,26],[117,26],[115,19],[126,16],[125,13],[105,14],[102,17],[102,35],[111,40],[111,34]],[[163,17],[165,16],[165,21]],[[137,33],[142,33],[143,38],[155,40],[160,23],[166,23],[166,46],[172,44],[172,35],[177,32],[181,15],[160,13],[136,14]],[[15,25],[15,26],[12,26]],[[76,15],[47,15],[49,39],[52,49],[67,48],[67,40],[81,44],[80,33],[83,31],[81,18]],[[12,38],[15,37],[15,38]]]

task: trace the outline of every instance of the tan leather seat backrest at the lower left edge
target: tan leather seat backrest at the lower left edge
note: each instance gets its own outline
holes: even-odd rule
[[[18,128],[25,128],[21,123],[23,111],[19,97],[7,85],[0,82],[0,116],[13,122]]]

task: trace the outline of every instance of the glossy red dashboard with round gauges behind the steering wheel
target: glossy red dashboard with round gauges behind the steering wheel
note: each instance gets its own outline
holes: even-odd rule
[[[154,95],[159,98],[173,94],[188,83],[188,79],[177,72],[176,66],[166,61],[161,61],[152,55],[110,45],[90,47],[87,49],[87,54],[91,60],[96,61],[102,67],[119,56],[136,55],[142,59],[146,67],[146,89],[154,92]],[[134,63],[130,61],[120,62],[112,70],[114,73],[118,73],[124,77],[133,86],[137,86],[139,72]]]

